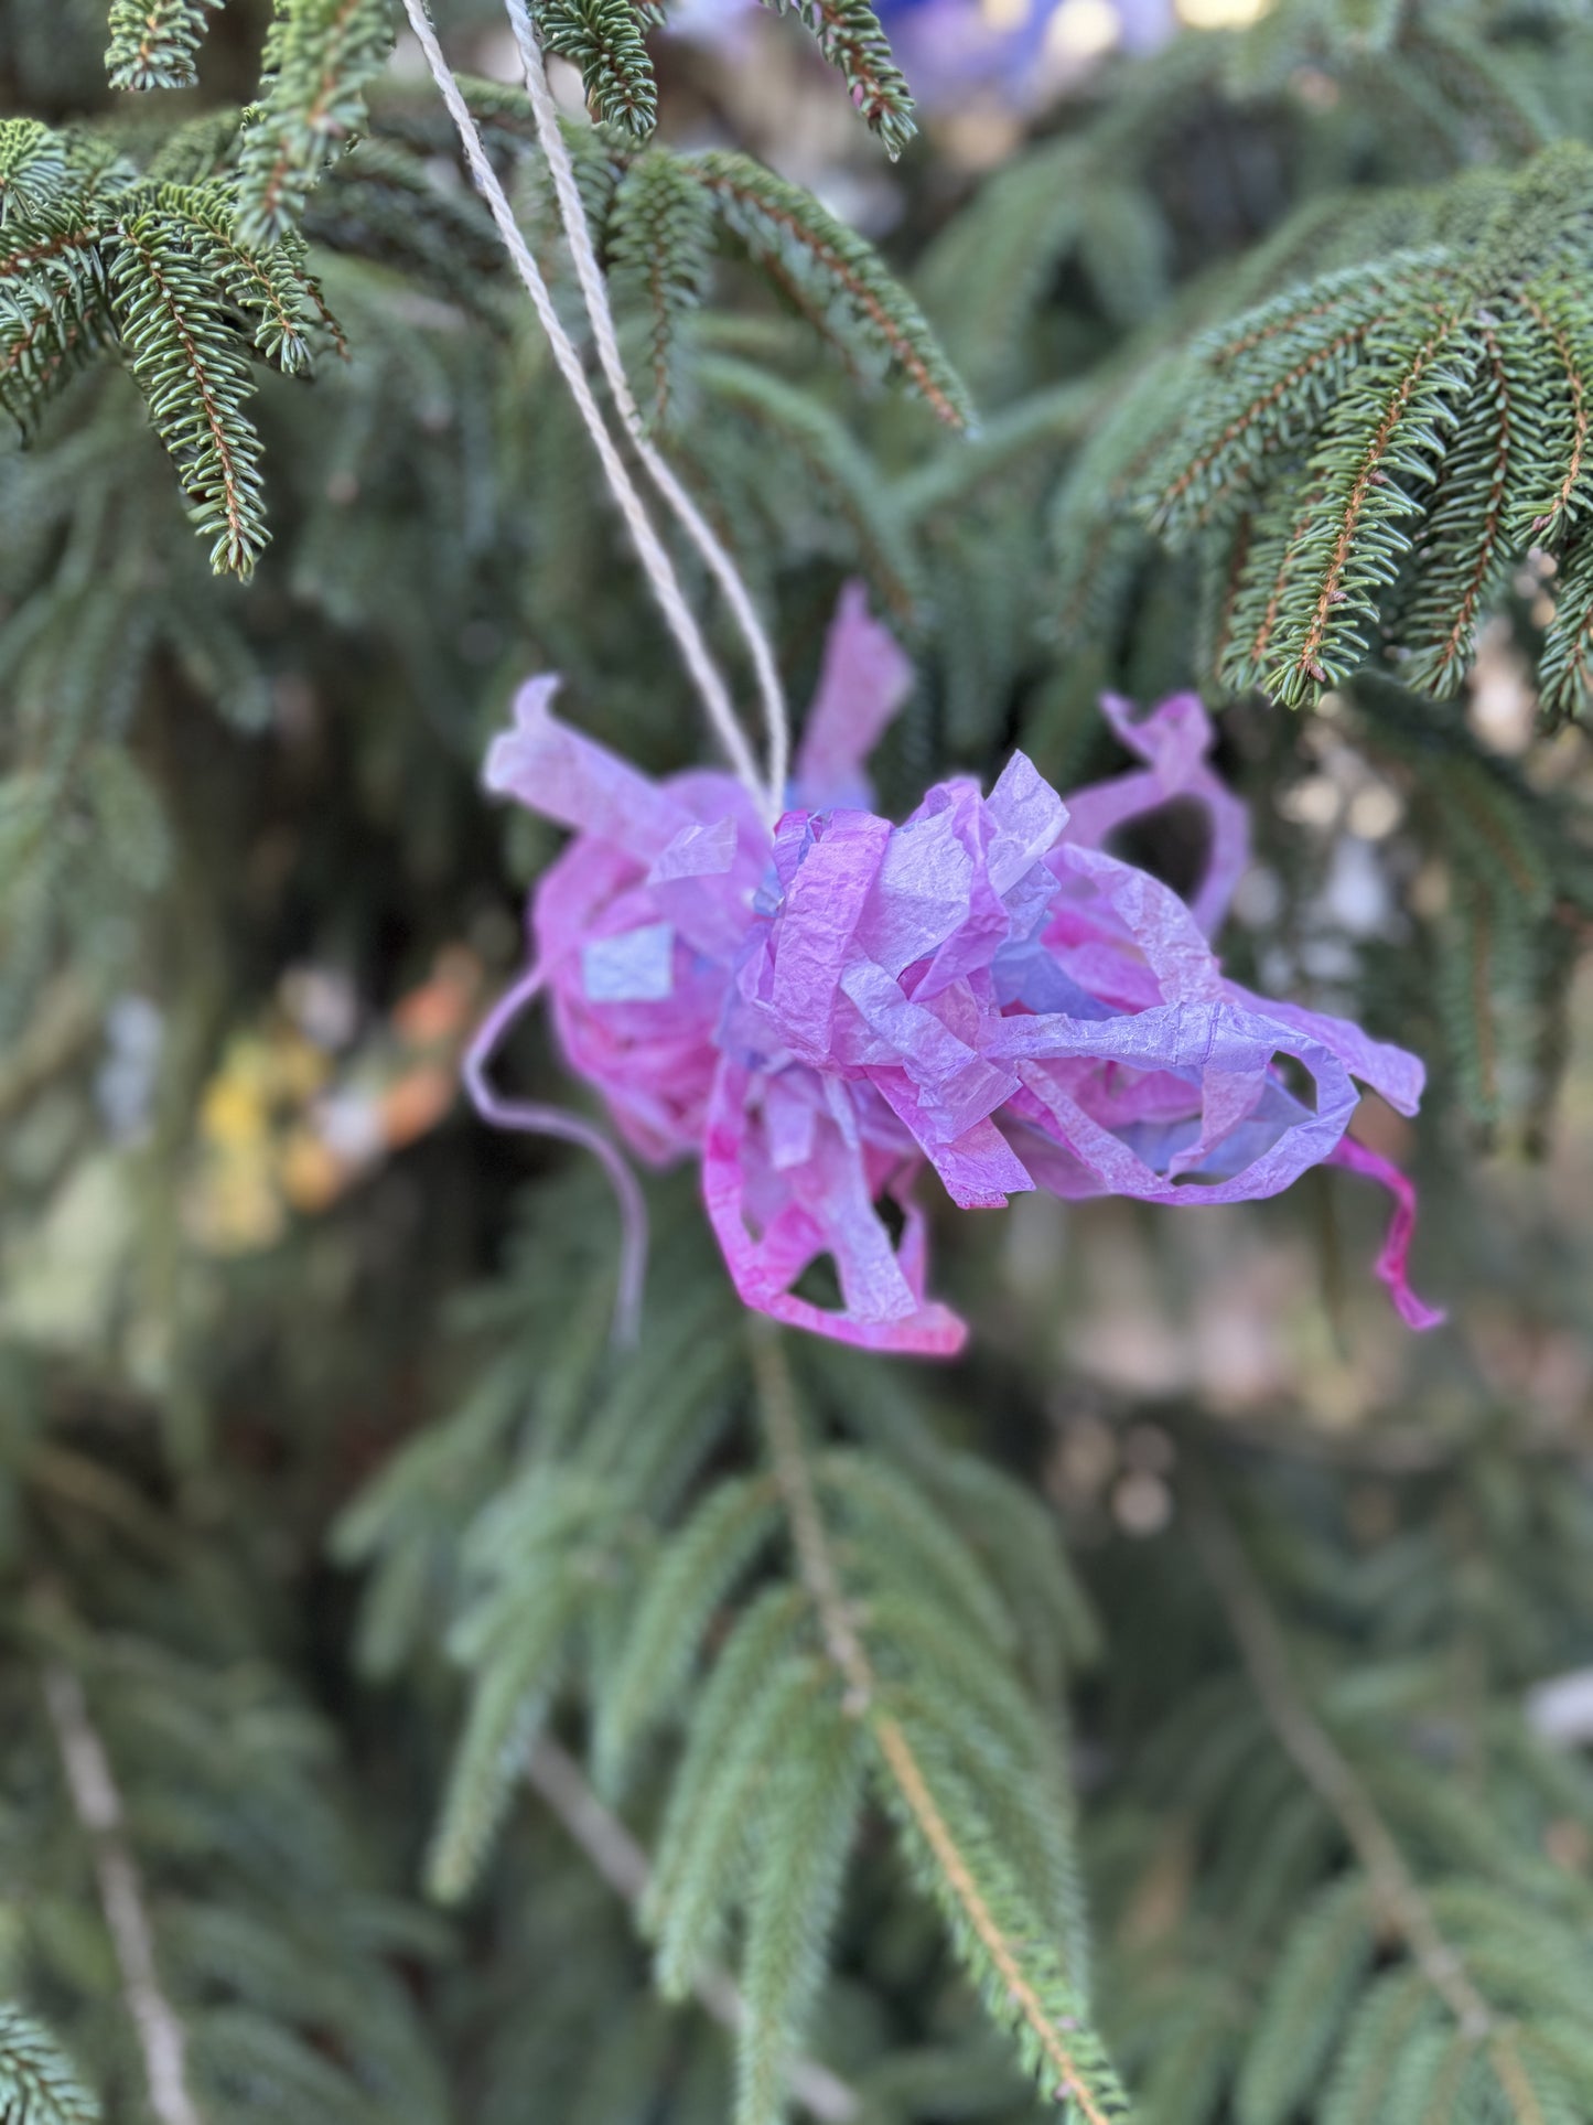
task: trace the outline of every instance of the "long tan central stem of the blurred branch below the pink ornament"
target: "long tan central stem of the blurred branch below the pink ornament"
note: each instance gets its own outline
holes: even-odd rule
[[[1005,1872],[998,1857],[992,1851],[973,1857],[964,1849],[966,1840],[954,1834],[932,1791],[920,1749],[909,1740],[903,1719],[888,1708],[824,1530],[784,1352],[763,1324],[754,1326],[750,1341],[758,1409],[790,1519],[796,1568],[813,1602],[828,1660],[845,1683],[841,1708],[867,1721],[898,1798],[898,1810],[905,1813],[932,1864],[939,1902],[956,1921],[958,1946],[975,1970],[988,1972],[986,1995],[992,2014],[1017,2029],[1030,2066],[1041,2070],[1058,2102],[1073,2102],[1085,2125],[1109,2125],[1124,2114],[1124,2100],[1111,2066],[1094,2036],[1081,2027],[1077,2012],[1058,2010],[1058,2002],[1070,2002],[1073,1995],[1056,1951],[1037,1938],[1032,1915],[1017,1917],[1009,1883],[1000,1883],[998,1893],[988,1893],[986,1885]],[[941,1783],[954,1783],[945,1770]],[[1007,1910],[998,1908],[998,1902]]]

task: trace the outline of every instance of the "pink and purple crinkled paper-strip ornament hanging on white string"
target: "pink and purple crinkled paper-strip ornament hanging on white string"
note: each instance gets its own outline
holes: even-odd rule
[[[1410,1326],[1440,1320],[1406,1277],[1410,1184],[1344,1133],[1353,1080],[1412,1114],[1421,1062],[1251,994],[1211,950],[1249,833],[1209,765],[1200,701],[1177,695],[1143,720],[1104,701],[1145,765],[1066,801],[1015,752],[990,795],[937,782],[892,824],[869,810],[862,763],[909,678],[852,584],[773,835],[735,778],[654,782],[559,722],[554,678],[520,688],[491,748],[486,786],[576,837],[531,897],[531,971],[482,1026],[472,1090],[491,1120],[605,1158],[631,1296],[629,1169],[588,1124],[516,1107],[486,1080],[506,1024],[544,990],[569,1067],[631,1150],[701,1158],[735,1288],[780,1322],[871,1349],[962,1345],[964,1324],[926,1294],[926,1164],[964,1209],[1028,1188],[1192,1209],[1279,1194],[1323,1162],[1393,1190],[1376,1273]],[[1211,818],[1187,903],[1102,846],[1179,797]],[[839,1309],[796,1294],[820,1256]]]

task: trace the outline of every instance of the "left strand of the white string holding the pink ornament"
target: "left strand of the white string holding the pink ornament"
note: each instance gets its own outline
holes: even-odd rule
[[[641,559],[641,567],[648,576],[658,610],[680,646],[686,669],[697,686],[697,693],[701,695],[703,708],[707,710],[707,720],[724,746],[737,776],[752,793],[758,810],[773,824],[771,795],[765,788],[756,761],[752,759],[752,748],[748,746],[746,733],[735,716],[724,680],[709,657],[697,616],[686,604],[686,593],[680,586],[675,563],[669,559],[669,552],[654,531],[652,518],[641,504],[641,495],[635,491],[631,474],[624,468],[624,459],[620,457],[614,436],[610,434],[597,400],[593,397],[593,387],[586,380],[586,370],[576,353],[576,344],[563,327],[552,295],[548,293],[548,283],[542,278],[542,268],[531,257],[525,234],[514,219],[514,208],[508,202],[508,193],[503,191],[497,170],[486,155],[476,119],[469,115],[469,106],[465,104],[459,83],[455,81],[455,72],[442,55],[442,45],[438,42],[438,32],[431,28],[425,0],[404,0],[404,13],[408,15],[416,42],[425,53],[427,66],[431,68],[431,79],[438,83],[438,91],[448,106],[448,117],[455,121],[459,144],[465,151],[469,172],[486,200],[489,212],[493,215],[499,240],[510,257],[510,264],[520,276],[527,295],[531,298],[531,306],[535,308],[537,321],[548,338],[559,374],[569,387],[569,395],[576,400],[576,410],[586,425],[586,434],[593,438],[610,491],[631,531],[631,540],[635,542],[637,557]]]

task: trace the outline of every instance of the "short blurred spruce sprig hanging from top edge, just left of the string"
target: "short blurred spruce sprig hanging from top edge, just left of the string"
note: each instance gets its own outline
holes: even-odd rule
[[[276,242],[299,221],[323,166],[363,130],[365,85],[391,49],[391,0],[278,0],[270,89],[238,157],[244,244]]]

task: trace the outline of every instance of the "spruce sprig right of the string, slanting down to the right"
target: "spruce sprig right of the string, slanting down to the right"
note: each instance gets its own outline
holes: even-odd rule
[[[709,149],[688,168],[720,206],[726,227],[758,266],[826,338],[837,332],[837,306],[864,342],[892,361],[947,427],[973,419],[966,391],[941,353],[922,310],[886,272],[873,244],[803,191],[750,155]]]

